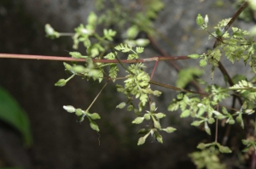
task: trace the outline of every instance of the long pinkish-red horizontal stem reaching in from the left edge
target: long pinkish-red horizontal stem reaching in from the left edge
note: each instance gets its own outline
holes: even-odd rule
[[[46,59],[46,60],[56,60],[56,61],[75,61],[75,62],[86,62],[86,59],[75,59],[59,56],[43,56],[43,55],[28,55],[28,54],[0,54],[0,58],[8,59]],[[120,59],[122,63],[140,63],[140,62],[152,62],[152,61],[166,61],[166,60],[177,60],[177,59],[189,59],[188,56],[155,56],[146,59]],[[94,62],[99,63],[119,63],[117,59],[92,59]]]

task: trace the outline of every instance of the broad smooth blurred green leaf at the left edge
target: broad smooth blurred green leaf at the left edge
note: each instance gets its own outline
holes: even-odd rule
[[[25,146],[32,145],[32,132],[26,112],[3,87],[0,87],[0,119],[21,133]]]

